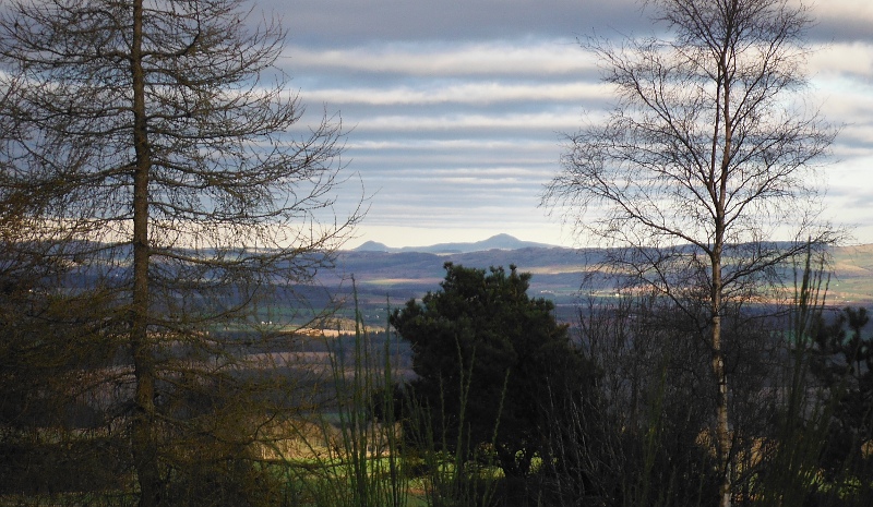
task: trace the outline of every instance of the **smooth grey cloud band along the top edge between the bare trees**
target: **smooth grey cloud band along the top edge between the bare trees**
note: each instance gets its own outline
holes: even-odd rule
[[[648,24],[635,0],[261,0],[259,9],[285,12],[291,41],[312,46],[572,37],[595,27]]]

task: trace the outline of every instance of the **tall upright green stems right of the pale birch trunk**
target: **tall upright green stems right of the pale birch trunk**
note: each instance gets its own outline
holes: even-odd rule
[[[847,393],[848,374],[834,385],[812,375],[823,351],[815,337],[823,331],[829,277],[824,257],[809,252],[796,270],[796,297],[785,331],[786,355],[777,376],[782,396],[776,407],[775,432],[767,442],[755,476],[755,504],[762,506],[862,507],[873,500],[873,476],[859,473],[847,458],[837,467],[823,463],[833,438],[835,410]],[[868,435],[868,438],[870,435]]]

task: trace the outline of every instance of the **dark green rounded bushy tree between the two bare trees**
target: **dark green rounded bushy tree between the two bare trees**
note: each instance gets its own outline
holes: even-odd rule
[[[555,322],[553,304],[527,295],[529,274],[451,263],[445,270],[441,291],[391,317],[412,346],[412,391],[439,434],[453,442],[468,432],[471,449],[493,443],[507,478],[526,476],[535,457],[548,459],[546,402],[559,386],[585,391],[593,370]]]

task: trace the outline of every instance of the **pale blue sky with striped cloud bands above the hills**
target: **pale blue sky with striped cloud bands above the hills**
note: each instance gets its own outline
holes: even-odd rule
[[[793,0],[792,0],[793,1]],[[509,233],[584,246],[540,206],[563,136],[609,110],[577,40],[648,36],[634,0],[259,0],[288,31],[279,65],[307,106],[347,131],[342,215],[362,193],[364,241],[418,246]],[[873,2],[818,0],[810,94],[840,126],[823,169],[825,218],[873,243]]]

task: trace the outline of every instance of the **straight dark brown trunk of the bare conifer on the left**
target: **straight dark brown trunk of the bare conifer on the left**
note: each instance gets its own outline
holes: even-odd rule
[[[135,413],[131,450],[140,484],[140,507],[162,503],[157,444],[155,442],[155,364],[148,342],[148,177],[151,157],[145,117],[145,76],[142,62],[143,0],[133,1],[131,77],[133,84],[133,294],[130,346],[135,377]]]

